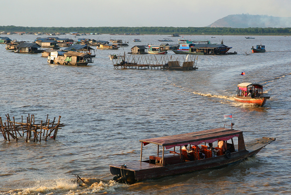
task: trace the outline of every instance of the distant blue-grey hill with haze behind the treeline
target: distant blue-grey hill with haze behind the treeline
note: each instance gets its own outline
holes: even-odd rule
[[[291,17],[274,17],[267,15],[236,14],[216,20],[207,27],[230,28],[290,28]]]

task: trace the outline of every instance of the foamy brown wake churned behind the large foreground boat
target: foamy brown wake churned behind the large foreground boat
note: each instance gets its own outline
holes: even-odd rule
[[[82,178],[83,179],[83,178]],[[83,179],[85,184],[78,185],[73,180],[58,179],[55,181],[45,181],[36,184],[32,188],[10,190],[10,195],[28,195],[28,194],[70,194],[70,195],[87,195],[97,193],[114,193],[115,188],[123,186],[113,180],[101,179]]]

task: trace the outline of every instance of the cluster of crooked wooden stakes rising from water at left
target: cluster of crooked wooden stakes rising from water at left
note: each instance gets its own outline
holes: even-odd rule
[[[33,142],[41,142],[42,139],[47,141],[48,137],[56,139],[57,133],[60,127],[64,127],[64,124],[60,123],[61,116],[59,116],[58,121],[56,122],[54,119],[50,122],[49,114],[47,115],[47,120],[45,123],[41,121],[40,123],[35,123],[34,115],[28,114],[26,117],[26,122],[23,121],[23,116],[21,116],[21,122],[15,122],[15,117],[13,120],[10,119],[9,114],[6,115],[6,121],[3,121],[0,117],[0,131],[4,137],[4,140],[10,139],[19,140],[19,137],[24,137],[26,135],[26,141],[30,142],[33,139]]]

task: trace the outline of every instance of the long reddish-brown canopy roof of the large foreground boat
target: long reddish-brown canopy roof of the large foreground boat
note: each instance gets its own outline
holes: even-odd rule
[[[217,140],[227,141],[235,136],[239,137],[239,134],[242,132],[243,131],[240,130],[218,128],[212,130],[202,130],[191,133],[144,139],[140,140],[140,142],[143,142],[144,146],[152,143],[160,146],[165,146],[166,149],[169,149],[174,146],[184,146],[186,144],[197,146],[203,142],[213,143]]]

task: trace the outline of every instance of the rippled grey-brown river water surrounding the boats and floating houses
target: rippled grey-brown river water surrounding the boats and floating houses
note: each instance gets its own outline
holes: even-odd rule
[[[3,36],[3,35],[2,35]],[[36,35],[7,35],[33,41]],[[41,37],[47,37],[42,35]],[[56,140],[41,143],[0,138],[0,194],[290,194],[291,37],[188,36],[233,47],[237,55],[198,56],[195,71],[113,69],[109,54],[134,45],[160,44],[166,35],[61,35],[59,38],[122,39],[128,48],[96,50],[87,66],[50,65],[41,54],[20,54],[0,46],[0,116],[36,122],[62,116]],[[142,42],[132,42],[139,38]],[[173,37],[174,43],[178,38]],[[250,53],[266,46],[267,52]],[[151,55],[151,54],[148,54]],[[182,55],[169,51],[166,55]],[[241,72],[245,72],[242,76]],[[237,84],[263,84],[271,98],[264,107],[236,103]],[[276,141],[257,156],[223,167],[146,180],[133,185],[110,179],[109,164],[139,160],[140,139],[223,127],[244,131],[244,140]],[[156,153],[148,147],[143,155]],[[80,174],[80,187],[72,174]],[[92,184],[92,185],[91,185]]]

